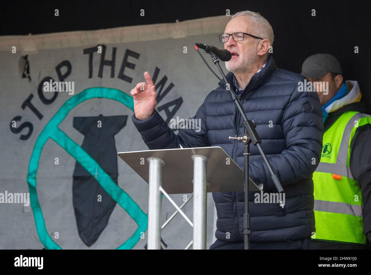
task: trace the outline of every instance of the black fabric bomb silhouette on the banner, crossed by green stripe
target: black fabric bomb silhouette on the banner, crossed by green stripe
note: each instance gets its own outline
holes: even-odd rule
[[[118,172],[114,136],[126,125],[127,118],[127,115],[73,118],[73,128],[85,136],[81,147],[116,184]],[[99,121],[101,127],[98,127]],[[72,192],[79,236],[87,246],[91,246],[107,226],[116,202],[78,162],[73,171]],[[98,201],[99,195],[101,201]]]

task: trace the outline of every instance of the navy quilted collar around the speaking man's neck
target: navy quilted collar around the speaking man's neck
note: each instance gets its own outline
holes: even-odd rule
[[[277,68],[277,66],[276,66],[275,60],[273,59],[272,56],[269,56],[268,59],[267,59],[267,63],[266,63],[265,68],[262,71],[260,71],[259,73],[255,73],[255,75],[252,76],[249,83],[244,88],[242,94],[244,95],[244,94],[247,94],[250,91],[255,91],[257,88],[262,86],[265,83],[265,81],[268,78],[270,78],[270,76],[273,74],[273,72],[275,71],[276,68]],[[234,74],[232,72],[229,72],[226,75],[226,79],[229,83],[229,86],[234,89],[233,76],[234,76]],[[219,86],[221,86],[223,88],[226,88],[226,84],[224,82],[224,79],[222,79],[219,82]]]

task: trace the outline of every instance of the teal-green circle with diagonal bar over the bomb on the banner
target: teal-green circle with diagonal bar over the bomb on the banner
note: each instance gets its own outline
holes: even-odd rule
[[[47,249],[61,249],[47,233],[45,221],[43,219],[42,210],[37,199],[36,191],[36,173],[39,166],[39,159],[42,152],[42,148],[46,141],[51,138],[63,149],[67,151],[76,161],[78,161],[95,179],[99,182],[102,188],[114,199],[125,211],[128,212],[129,216],[135,220],[138,225],[137,230],[125,243],[120,245],[117,249],[131,249],[139,240],[141,232],[147,230],[147,215],[140,209],[140,207],[131,199],[131,197],[125,193],[120,187],[118,187],[111,177],[96,163],[93,158],[86,153],[78,144],[72,141],[64,132],[62,132],[58,125],[64,120],[68,112],[81,102],[92,99],[92,98],[107,98],[121,102],[131,110],[134,109],[134,102],[127,94],[109,88],[89,88],[82,91],[80,94],[73,96],[63,104],[59,111],[53,116],[53,118],[47,123],[44,130],[40,133],[36,140],[35,147],[33,149],[29,172],[27,175],[27,183],[30,189],[30,200],[31,207],[35,217],[36,230],[39,235],[40,241]]]

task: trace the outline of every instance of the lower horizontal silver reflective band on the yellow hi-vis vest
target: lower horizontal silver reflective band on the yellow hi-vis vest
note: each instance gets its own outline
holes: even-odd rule
[[[327,202],[325,200],[314,200],[314,209],[322,212],[332,212],[340,214],[349,214],[362,217],[362,207],[360,205],[342,203],[342,202]]]

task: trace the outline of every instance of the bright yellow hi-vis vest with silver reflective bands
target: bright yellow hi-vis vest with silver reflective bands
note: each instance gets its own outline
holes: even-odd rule
[[[355,131],[366,124],[371,124],[369,115],[348,111],[324,132],[321,161],[313,173],[316,232],[312,239],[366,243],[361,188],[349,168]]]

